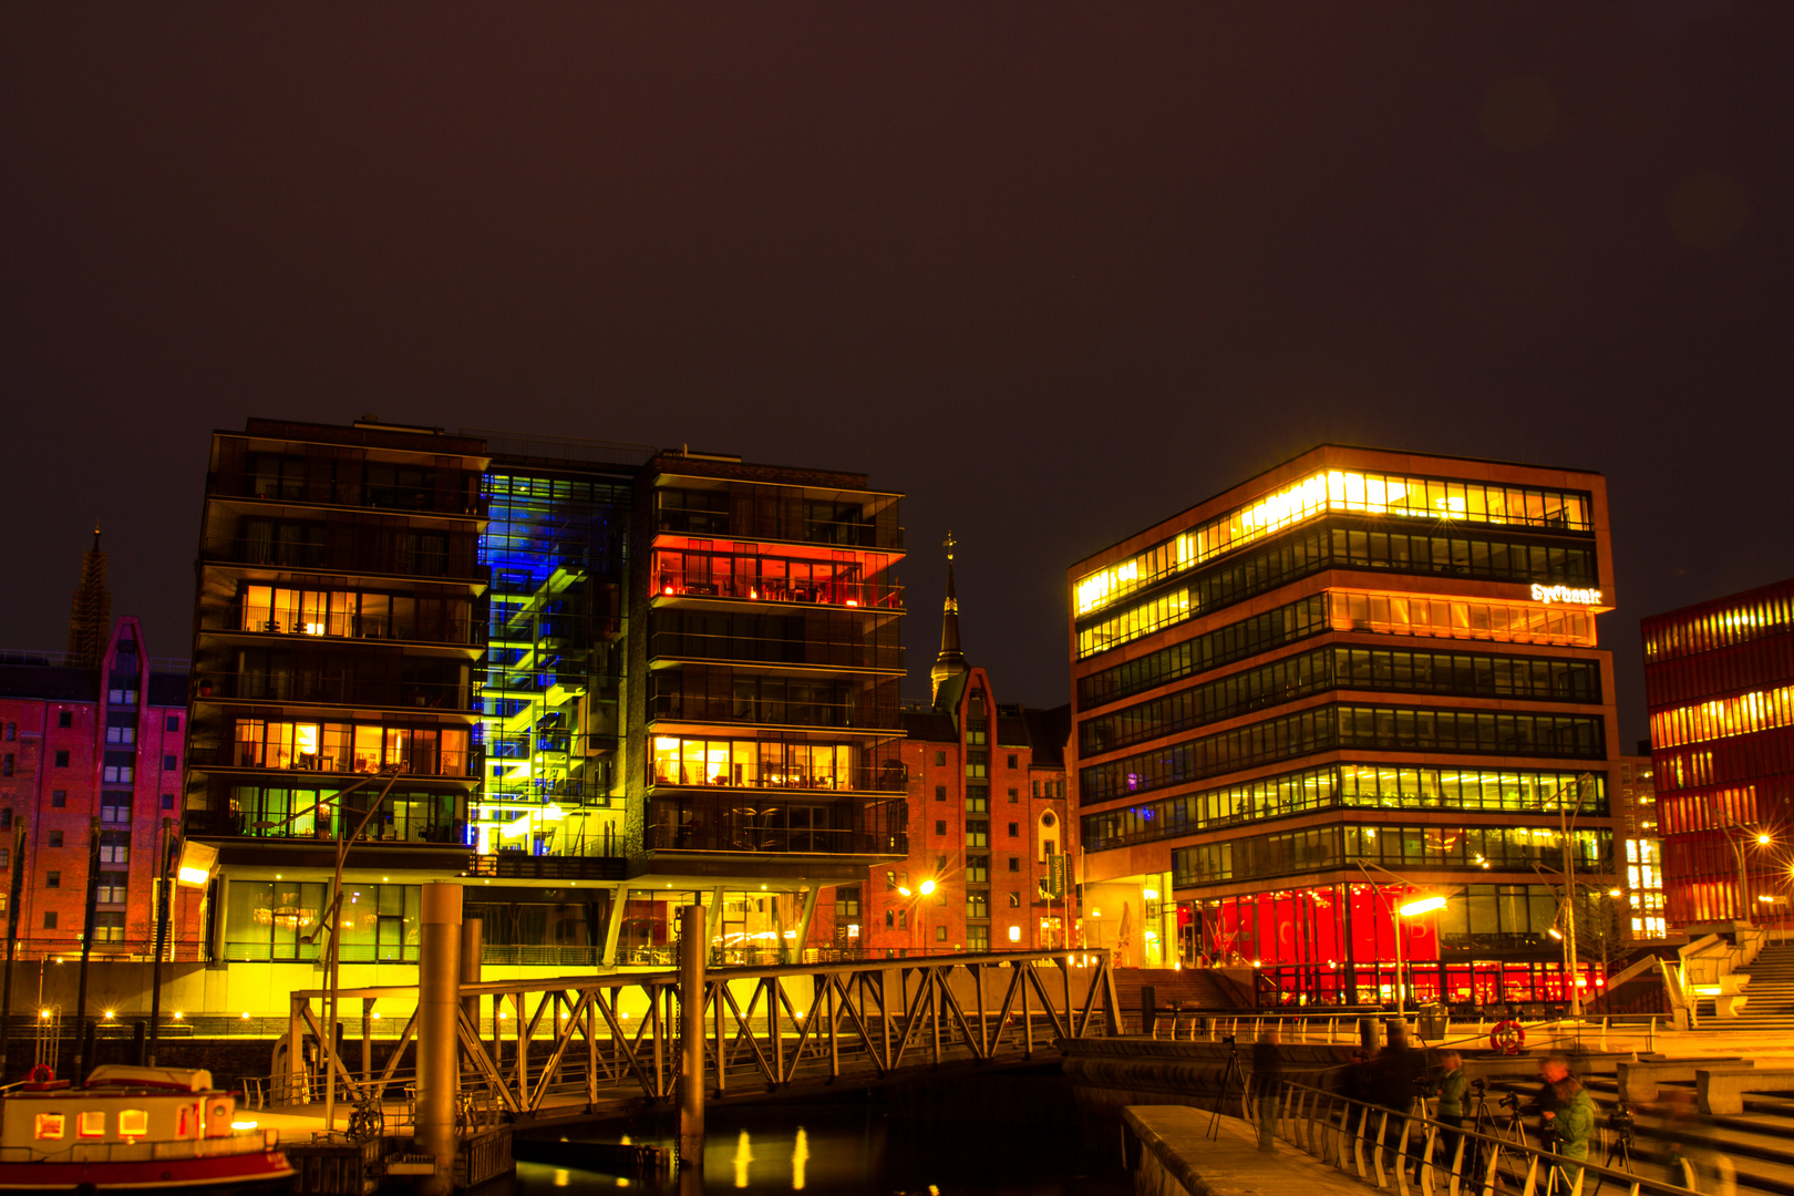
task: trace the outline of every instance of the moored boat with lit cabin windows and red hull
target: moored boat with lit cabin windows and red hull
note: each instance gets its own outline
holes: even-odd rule
[[[174,1187],[287,1192],[292,1166],[278,1131],[240,1121],[203,1069],[95,1067],[83,1087],[38,1069],[0,1097],[0,1192]]]

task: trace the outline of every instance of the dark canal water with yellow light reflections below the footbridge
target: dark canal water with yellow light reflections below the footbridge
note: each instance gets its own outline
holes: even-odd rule
[[[666,1146],[673,1122],[639,1128],[637,1144]],[[599,1140],[619,1140],[610,1135]],[[761,1105],[709,1110],[703,1192],[811,1196],[1130,1196],[1119,1158],[1091,1158],[1062,1126],[940,1124],[895,1119],[874,1103]],[[667,1176],[617,1174],[518,1162],[513,1196],[578,1196],[635,1189],[694,1191]]]

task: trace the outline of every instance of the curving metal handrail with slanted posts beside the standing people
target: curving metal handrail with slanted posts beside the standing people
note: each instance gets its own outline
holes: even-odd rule
[[[1525,1160],[1525,1185],[1521,1196],[1534,1196],[1541,1180],[1546,1178],[1552,1167],[1570,1182],[1568,1189],[1555,1189],[1559,1196],[1581,1196],[1582,1180],[1588,1173],[1595,1173],[1597,1180],[1606,1185],[1606,1182],[1615,1182],[1625,1187],[1627,1196],[1643,1196],[1643,1192],[1667,1194],[1667,1196],[1690,1196],[1692,1187],[1681,1187],[1663,1180],[1650,1180],[1631,1171],[1622,1171],[1616,1167],[1607,1167],[1604,1164],[1591,1164],[1586,1160],[1570,1158],[1559,1155],[1557,1151],[1548,1151],[1539,1146],[1532,1146],[1525,1140],[1525,1131],[1520,1139],[1511,1139],[1502,1133],[1482,1133],[1467,1126],[1450,1126],[1442,1121],[1426,1117],[1424,1101],[1415,1099],[1414,1108],[1419,1112],[1398,1112],[1383,1105],[1372,1105],[1369,1101],[1358,1101],[1326,1088],[1315,1088],[1311,1085],[1299,1083],[1295,1079],[1276,1081],[1276,1101],[1277,1106],[1270,1112],[1270,1119],[1259,1121],[1259,1124],[1274,1124],[1274,1131],[1285,1142],[1313,1155],[1320,1162],[1329,1162],[1340,1171],[1354,1173],[1360,1180],[1371,1182],[1378,1191],[1394,1191],[1398,1196],[1410,1196],[1412,1187],[1408,1182],[1408,1162],[1417,1158],[1421,1164],[1421,1196],[1435,1196],[1439,1192],[1439,1180],[1446,1180],[1448,1196],[1494,1196],[1496,1174],[1503,1173],[1502,1155],[1512,1153]],[[1224,1097],[1225,1099],[1225,1094]],[[1240,1094],[1241,1121],[1252,1122],[1263,1115],[1263,1108],[1258,1106],[1259,1101],[1267,1099],[1259,1083],[1249,1081]],[[1390,1117],[1399,1122],[1399,1137],[1390,1142]],[[1415,1130],[1419,1128],[1419,1130]],[[1451,1160],[1433,1162],[1433,1151],[1439,1146],[1439,1135],[1457,1135]],[[1412,1142],[1415,1133],[1421,1135],[1419,1142]],[[1410,1144],[1417,1149],[1410,1151]],[[1466,1148],[1473,1148],[1473,1162],[1480,1167],[1482,1176],[1466,1176],[1464,1155]],[[1394,1151],[1396,1174],[1394,1180],[1387,1174],[1383,1166],[1383,1155]],[[1482,1158],[1476,1158],[1476,1157]],[[1541,1174],[1541,1164],[1543,1173]],[[1505,1169],[1512,1178],[1518,1169]],[[1570,1174],[1573,1173],[1573,1180]],[[1464,1180],[1469,1178],[1469,1187],[1464,1187]]]

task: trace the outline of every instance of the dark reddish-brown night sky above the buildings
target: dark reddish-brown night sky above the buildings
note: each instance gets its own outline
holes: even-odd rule
[[[1794,4],[0,5],[0,646],[93,520],[185,656],[206,436],[908,491],[911,696],[1317,441],[1607,473],[1638,620],[1794,574]]]

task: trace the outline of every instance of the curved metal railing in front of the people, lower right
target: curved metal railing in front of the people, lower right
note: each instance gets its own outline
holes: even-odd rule
[[[1453,1126],[1426,1115],[1426,1103],[1399,1114],[1292,1079],[1247,1081],[1222,1094],[1222,1112],[1272,1131],[1320,1162],[1396,1196],[1690,1196],[1694,1174],[1672,1183],[1624,1167],[1570,1158],[1527,1140],[1523,1124],[1473,1121]],[[1593,1139],[1593,1135],[1591,1135]],[[1588,1146],[1595,1155],[1593,1140]],[[1607,1155],[1606,1158],[1613,1158]],[[1414,1169],[1417,1180],[1410,1180]]]

